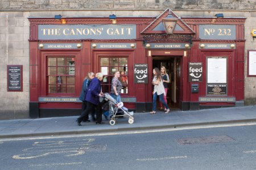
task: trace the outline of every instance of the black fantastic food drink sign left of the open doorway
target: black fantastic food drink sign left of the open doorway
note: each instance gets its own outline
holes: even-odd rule
[[[148,65],[147,63],[134,64],[134,83],[147,84],[148,83]]]

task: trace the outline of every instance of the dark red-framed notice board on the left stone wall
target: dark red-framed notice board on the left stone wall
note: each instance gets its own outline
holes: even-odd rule
[[[7,91],[22,91],[22,65],[7,65]]]

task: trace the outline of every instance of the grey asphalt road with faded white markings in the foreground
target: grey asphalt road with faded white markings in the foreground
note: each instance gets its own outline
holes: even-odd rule
[[[0,169],[256,169],[255,131],[252,125],[0,141]]]

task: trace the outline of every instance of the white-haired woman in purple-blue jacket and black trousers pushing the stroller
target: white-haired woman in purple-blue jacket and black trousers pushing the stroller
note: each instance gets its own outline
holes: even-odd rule
[[[93,108],[96,108],[96,124],[104,124],[102,122],[102,116],[100,112],[100,96],[101,96],[101,80],[103,79],[102,73],[97,73],[96,77],[92,79],[88,90],[86,92],[86,109],[85,112],[77,118],[77,125],[81,126],[81,121],[84,117],[88,117],[88,114],[92,111]]]

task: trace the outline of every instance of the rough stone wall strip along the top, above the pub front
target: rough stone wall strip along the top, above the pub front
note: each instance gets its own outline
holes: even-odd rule
[[[0,10],[255,10],[255,0],[13,0]]]

